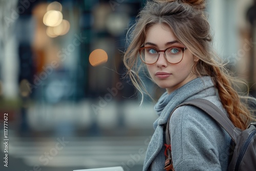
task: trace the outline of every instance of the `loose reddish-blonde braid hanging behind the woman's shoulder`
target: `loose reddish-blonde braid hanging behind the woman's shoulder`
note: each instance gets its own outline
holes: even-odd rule
[[[255,120],[252,111],[249,111],[250,108],[247,100],[244,100],[244,98],[249,99],[250,97],[248,95],[240,96],[238,91],[236,91],[236,83],[244,82],[234,79],[230,72],[225,69],[224,65],[217,64],[217,61],[213,60],[211,62],[198,60],[192,72],[198,76],[208,75],[212,78],[215,88],[218,90],[221,103],[234,126],[245,130],[248,123]]]

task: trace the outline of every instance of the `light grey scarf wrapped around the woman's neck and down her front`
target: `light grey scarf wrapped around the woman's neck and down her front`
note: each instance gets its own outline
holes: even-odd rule
[[[163,125],[167,123],[170,113],[180,103],[194,99],[216,95],[214,83],[209,76],[189,81],[171,94],[164,93],[155,105],[159,118],[154,122],[155,133],[147,147],[143,170],[147,170],[154,158],[163,147]]]

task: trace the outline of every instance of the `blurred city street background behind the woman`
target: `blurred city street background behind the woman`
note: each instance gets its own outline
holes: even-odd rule
[[[0,0],[0,170],[142,170],[157,116],[123,79],[122,55],[145,2]],[[217,52],[255,96],[256,1],[206,10]],[[145,82],[157,100],[164,90]]]

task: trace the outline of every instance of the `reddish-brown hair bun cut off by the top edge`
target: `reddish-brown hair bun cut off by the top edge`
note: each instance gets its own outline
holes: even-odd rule
[[[167,3],[167,2],[180,2],[184,4],[189,4],[193,6],[195,9],[198,10],[204,10],[206,5],[205,5],[205,0],[155,0],[155,2],[159,3]]]

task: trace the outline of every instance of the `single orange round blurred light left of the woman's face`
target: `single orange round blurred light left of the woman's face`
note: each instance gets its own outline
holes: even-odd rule
[[[96,49],[92,51],[92,53],[89,56],[89,62],[93,67],[101,65],[106,61],[108,61],[108,54],[106,54],[106,52],[102,49]]]

